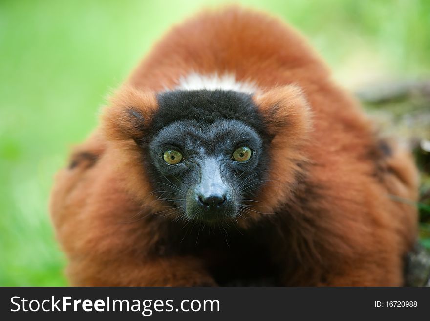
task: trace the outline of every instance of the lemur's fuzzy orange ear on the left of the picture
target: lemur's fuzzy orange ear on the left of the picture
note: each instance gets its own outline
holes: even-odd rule
[[[133,139],[139,143],[157,108],[154,92],[141,91],[131,86],[122,87],[102,114],[104,135],[108,139]]]

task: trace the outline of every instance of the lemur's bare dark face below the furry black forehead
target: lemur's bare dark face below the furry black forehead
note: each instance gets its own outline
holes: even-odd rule
[[[153,184],[160,198],[188,219],[214,223],[235,218],[265,180],[262,145],[258,133],[242,121],[175,121],[151,140]]]

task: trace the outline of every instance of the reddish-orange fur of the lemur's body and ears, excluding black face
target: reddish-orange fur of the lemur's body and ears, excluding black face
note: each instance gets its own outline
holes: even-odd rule
[[[131,139],[139,128],[125,110],[133,106],[151,126],[155,93],[192,71],[229,72],[260,88],[255,102],[276,135],[270,146],[276,183],[263,188],[261,211],[290,215],[288,226],[278,228],[288,234],[284,244],[269,249],[284,266],[281,284],[402,285],[417,216],[392,196],[417,197],[409,154],[393,144],[391,155],[382,154],[357,102],[333,84],[291,27],[237,8],[206,12],[173,28],[112,99],[100,129],[72,154],[73,168],[57,175],[51,213],[71,284],[215,285],[205,259],[153,253],[169,237],[162,220],[144,215],[133,221],[136,213],[162,211],[163,204],[151,194]],[[302,162],[309,166],[301,168]],[[324,197],[307,195],[302,178],[320,186]],[[266,216],[249,213],[239,225],[247,229],[271,219]]]

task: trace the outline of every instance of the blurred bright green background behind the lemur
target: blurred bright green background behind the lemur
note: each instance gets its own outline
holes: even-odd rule
[[[220,2],[0,1],[0,285],[67,284],[47,211],[54,173],[154,41]],[[238,3],[295,25],[351,90],[429,78],[428,0]]]

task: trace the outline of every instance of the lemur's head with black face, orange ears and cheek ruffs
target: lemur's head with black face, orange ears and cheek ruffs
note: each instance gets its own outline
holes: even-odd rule
[[[280,205],[300,167],[308,116],[293,86],[259,96],[123,89],[104,128],[123,151],[119,167],[129,190],[150,212],[219,224]]]

